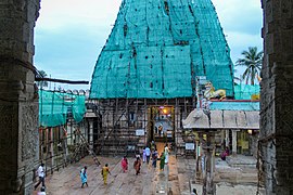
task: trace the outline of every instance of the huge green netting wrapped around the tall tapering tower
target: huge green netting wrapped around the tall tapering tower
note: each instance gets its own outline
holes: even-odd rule
[[[232,66],[211,0],[124,0],[90,98],[192,96],[196,76],[233,96]]]

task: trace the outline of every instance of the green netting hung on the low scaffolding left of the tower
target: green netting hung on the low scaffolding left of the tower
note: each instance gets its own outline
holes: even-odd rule
[[[42,127],[55,127],[66,123],[73,115],[76,122],[82,120],[86,113],[85,95],[39,90],[39,123]]]

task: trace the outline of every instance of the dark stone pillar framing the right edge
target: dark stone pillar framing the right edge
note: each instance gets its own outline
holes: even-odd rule
[[[266,194],[293,192],[293,1],[263,0],[260,170]]]

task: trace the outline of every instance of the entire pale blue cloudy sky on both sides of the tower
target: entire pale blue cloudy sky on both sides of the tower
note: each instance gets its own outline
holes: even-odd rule
[[[249,47],[263,50],[260,0],[212,0],[234,63]],[[111,34],[122,0],[41,0],[35,28],[35,66],[48,77],[91,81],[101,49]],[[235,75],[241,75],[238,69]],[[51,83],[50,89],[90,84]]]

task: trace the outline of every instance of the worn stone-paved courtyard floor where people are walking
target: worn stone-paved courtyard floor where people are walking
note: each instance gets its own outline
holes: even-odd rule
[[[168,194],[169,192],[174,195],[190,195],[191,188],[194,187],[201,194],[202,185],[200,182],[195,182],[195,160],[193,158],[176,158],[171,155],[169,165],[164,171],[143,164],[139,176],[135,174],[132,168],[135,157],[128,157],[129,170],[126,173],[122,171],[120,159],[120,157],[99,157],[102,165],[106,162],[110,165],[112,174],[109,176],[107,185],[103,184],[100,174],[101,166],[97,167],[90,157],[86,157],[80,162],[72,164],[47,177],[47,194],[155,195]],[[242,156],[241,159],[245,161],[245,156]],[[79,171],[84,166],[88,167],[89,186],[81,188]],[[235,167],[229,165],[228,161],[216,159],[215,183],[217,184],[216,192],[219,195],[256,194],[257,171],[251,166]],[[34,193],[37,194],[37,191]]]

